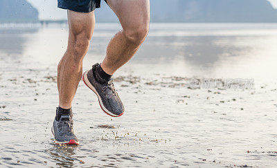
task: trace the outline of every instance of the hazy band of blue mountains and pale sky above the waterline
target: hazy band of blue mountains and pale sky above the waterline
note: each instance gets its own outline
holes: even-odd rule
[[[66,20],[55,0],[1,0],[1,22]],[[276,0],[152,0],[152,22],[276,22]],[[17,12],[14,12],[14,11]],[[101,22],[116,22],[106,4],[97,11]]]

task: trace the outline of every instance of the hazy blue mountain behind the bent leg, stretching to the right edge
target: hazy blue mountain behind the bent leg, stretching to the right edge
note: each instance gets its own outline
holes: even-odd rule
[[[153,22],[277,22],[267,0],[150,0]],[[108,6],[96,10],[98,21],[115,21]]]

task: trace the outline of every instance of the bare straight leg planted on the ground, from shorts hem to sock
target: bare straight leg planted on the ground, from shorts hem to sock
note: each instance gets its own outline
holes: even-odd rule
[[[89,49],[95,17],[94,12],[80,13],[68,10],[69,44],[57,67],[57,89],[60,107],[70,109],[82,77],[82,60]]]

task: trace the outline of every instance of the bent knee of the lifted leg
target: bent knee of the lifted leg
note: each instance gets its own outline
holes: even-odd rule
[[[139,45],[141,44],[145,37],[148,35],[149,26],[148,24],[141,24],[137,28],[127,28],[123,29],[123,33],[126,37],[126,39],[132,43]]]

